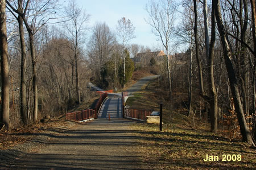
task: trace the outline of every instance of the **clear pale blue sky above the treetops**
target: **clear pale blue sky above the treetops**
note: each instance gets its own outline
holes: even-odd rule
[[[60,2],[66,4],[68,0],[60,0]],[[124,16],[135,26],[136,38],[131,40],[131,43],[159,47],[160,42],[156,41],[151,26],[144,20],[148,17],[145,10],[147,2],[148,0],[76,0],[76,3],[91,15],[90,27],[96,22],[106,22],[115,31],[117,21]]]

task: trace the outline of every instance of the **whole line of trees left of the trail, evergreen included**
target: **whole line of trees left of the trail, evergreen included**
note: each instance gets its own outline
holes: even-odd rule
[[[90,77],[122,88],[134,71],[135,27],[117,22],[89,28],[90,14],[76,1],[1,0],[1,114],[7,129],[65,113],[92,96]],[[89,36],[92,31],[92,36]],[[86,48],[85,48],[86,47]],[[114,68],[114,69],[113,69]]]

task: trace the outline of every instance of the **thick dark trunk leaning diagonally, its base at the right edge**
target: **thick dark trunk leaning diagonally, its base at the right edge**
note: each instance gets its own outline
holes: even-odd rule
[[[224,59],[225,59],[226,70],[228,72],[228,77],[229,77],[232,95],[233,95],[233,99],[234,99],[234,106],[236,109],[238,123],[240,125],[242,138],[245,142],[255,146],[255,144],[253,143],[251,134],[250,134],[250,130],[246,125],[245,115],[243,113],[243,106],[241,103],[241,98],[240,98],[238,85],[237,85],[237,77],[236,77],[236,73],[234,71],[234,67],[233,67],[233,64],[231,61],[232,52],[229,47],[228,35],[226,34],[226,30],[225,30],[224,24],[222,22],[220,2],[218,0],[213,1],[212,5],[213,5],[214,11],[215,11],[215,17],[217,20],[218,31],[220,32],[221,43],[222,43],[222,47],[224,50]]]

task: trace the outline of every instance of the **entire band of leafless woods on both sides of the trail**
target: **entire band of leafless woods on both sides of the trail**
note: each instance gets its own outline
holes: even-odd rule
[[[148,1],[145,20],[160,47],[135,44],[134,21],[124,16],[114,28],[89,28],[90,14],[75,0],[0,2],[1,125],[81,106],[94,96],[89,81],[122,90],[132,76],[154,73],[172,114],[185,110],[214,133],[255,143],[254,0]]]

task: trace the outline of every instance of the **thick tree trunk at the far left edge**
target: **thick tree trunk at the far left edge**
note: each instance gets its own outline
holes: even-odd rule
[[[9,63],[7,49],[5,1],[0,2],[0,54],[1,54],[1,122],[9,129]]]

